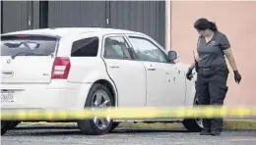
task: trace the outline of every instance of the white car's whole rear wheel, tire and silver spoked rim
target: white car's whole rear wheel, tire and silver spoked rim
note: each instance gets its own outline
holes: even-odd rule
[[[95,110],[96,108],[112,107],[114,105],[113,96],[102,84],[94,84],[89,92],[85,108]],[[109,118],[78,121],[78,126],[84,134],[100,135],[110,131],[112,120]]]

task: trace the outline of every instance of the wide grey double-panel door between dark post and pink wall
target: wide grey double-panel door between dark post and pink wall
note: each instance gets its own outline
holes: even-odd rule
[[[48,27],[100,26],[141,31],[164,46],[164,1],[49,1]]]

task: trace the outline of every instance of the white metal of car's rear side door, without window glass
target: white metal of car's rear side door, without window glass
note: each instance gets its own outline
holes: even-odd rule
[[[119,37],[123,34],[107,34],[103,38]],[[125,39],[125,41],[127,41]],[[104,52],[104,40],[102,52]],[[119,107],[143,107],[146,105],[146,71],[140,61],[134,59],[107,58],[101,54],[107,73],[116,85]]]

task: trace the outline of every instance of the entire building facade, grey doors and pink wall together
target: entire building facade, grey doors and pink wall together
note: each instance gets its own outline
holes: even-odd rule
[[[256,105],[256,2],[234,1],[1,1],[1,33],[59,26],[100,26],[141,31],[165,49],[179,53],[179,62],[191,63],[196,48],[196,19],[215,22],[228,37],[239,85],[230,70],[226,105]]]

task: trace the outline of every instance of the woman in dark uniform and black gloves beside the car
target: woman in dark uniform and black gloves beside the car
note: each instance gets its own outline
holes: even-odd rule
[[[205,18],[198,19],[194,24],[199,33],[195,62],[191,65],[186,77],[192,78],[196,69],[196,95],[199,105],[223,105],[228,87],[226,80],[228,68],[227,58],[234,73],[234,80],[239,83],[241,75],[235,65],[230,44],[225,34],[218,30],[217,25]],[[225,56],[225,57],[224,57]],[[223,130],[223,119],[203,119],[204,128],[201,135],[220,135]]]

